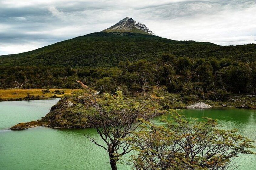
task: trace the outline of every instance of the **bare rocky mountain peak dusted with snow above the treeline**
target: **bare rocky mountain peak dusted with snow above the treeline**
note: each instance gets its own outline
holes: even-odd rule
[[[148,33],[155,35],[146,25],[126,17],[120,20],[115,25],[103,30],[103,32],[135,32],[135,33]]]

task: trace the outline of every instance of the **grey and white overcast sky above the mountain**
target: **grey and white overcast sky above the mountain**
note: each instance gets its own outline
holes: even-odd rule
[[[255,0],[0,0],[0,55],[99,32],[125,17],[173,40],[256,43]]]

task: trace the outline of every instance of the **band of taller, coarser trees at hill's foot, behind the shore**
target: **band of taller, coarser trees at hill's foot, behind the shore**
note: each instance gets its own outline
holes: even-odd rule
[[[154,61],[120,62],[117,67],[2,66],[1,88],[79,88],[76,80],[100,92],[147,91],[156,86],[184,95],[209,91],[254,93],[256,62],[228,58],[191,59],[164,54]],[[214,94],[214,93],[212,93]]]

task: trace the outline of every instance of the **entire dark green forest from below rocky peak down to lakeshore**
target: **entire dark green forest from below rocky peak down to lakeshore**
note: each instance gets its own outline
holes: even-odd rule
[[[97,32],[0,56],[0,88],[80,88],[76,80],[100,93],[161,89],[187,100],[225,100],[255,93],[256,45]]]

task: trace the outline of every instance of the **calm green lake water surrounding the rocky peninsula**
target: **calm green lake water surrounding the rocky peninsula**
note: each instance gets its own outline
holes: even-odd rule
[[[0,169],[110,169],[105,150],[95,146],[83,134],[98,138],[94,129],[30,128],[10,131],[18,122],[40,119],[58,99],[0,102]],[[239,133],[256,140],[256,110],[209,109],[183,110],[187,117],[218,119],[222,128],[237,128]],[[154,120],[159,123],[159,117]],[[100,140],[99,140],[100,142]],[[240,170],[256,169],[256,156],[235,159]],[[118,165],[119,169],[130,169]]]

